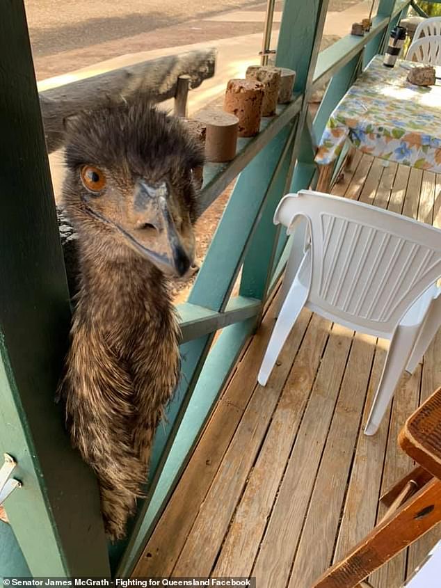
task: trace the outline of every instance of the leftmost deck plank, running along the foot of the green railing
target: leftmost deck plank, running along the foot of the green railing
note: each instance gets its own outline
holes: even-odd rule
[[[186,537],[205,499],[220,461],[227,450],[257,381],[257,372],[277,312],[277,299],[268,309],[259,331],[252,338],[236,373],[218,402],[179,485],[159,519],[143,556],[134,570],[136,577],[168,576],[173,571]]]

